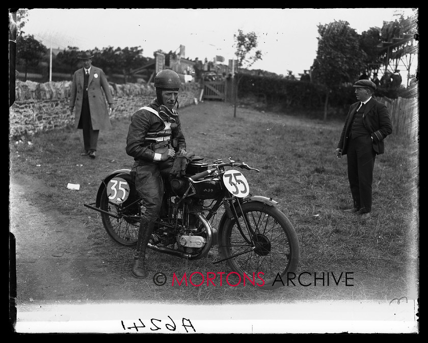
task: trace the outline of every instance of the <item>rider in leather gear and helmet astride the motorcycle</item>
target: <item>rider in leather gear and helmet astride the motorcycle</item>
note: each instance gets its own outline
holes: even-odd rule
[[[131,176],[145,204],[138,232],[132,275],[146,277],[145,251],[155,221],[161,211],[164,194],[162,170],[173,166],[174,156],[185,154],[186,142],[178,112],[180,78],[170,69],[154,78],[156,98],[133,113],[126,138],[126,153],[135,160]]]

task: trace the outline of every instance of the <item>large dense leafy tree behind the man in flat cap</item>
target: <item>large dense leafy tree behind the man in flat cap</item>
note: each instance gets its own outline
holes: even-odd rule
[[[361,49],[359,36],[347,21],[318,25],[318,50],[312,66],[312,77],[325,89],[324,120],[330,90],[358,80],[365,70],[367,54]]]

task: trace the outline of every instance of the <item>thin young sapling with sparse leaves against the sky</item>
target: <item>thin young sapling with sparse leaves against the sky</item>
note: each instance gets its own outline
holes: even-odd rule
[[[257,48],[257,35],[254,32],[244,34],[242,30],[238,30],[238,34],[233,35],[234,47],[236,47],[235,55],[237,58],[237,77],[235,85],[235,104],[233,117],[236,117],[236,98],[238,93],[239,81],[242,79],[242,75],[239,73],[239,69],[244,66],[246,68],[251,67],[256,61],[261,60],[261,51],[255,50]],[[254,51],[255,50],[255,51]],[[250,52],[254,51],[254,55],[249,55]]]

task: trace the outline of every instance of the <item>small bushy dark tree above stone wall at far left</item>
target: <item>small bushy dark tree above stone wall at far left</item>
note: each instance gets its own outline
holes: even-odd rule
[[[16,59],[24,65],[26,81],[29,67],[37,67],[47,52],[46,46],[33,35],[16,37]]]

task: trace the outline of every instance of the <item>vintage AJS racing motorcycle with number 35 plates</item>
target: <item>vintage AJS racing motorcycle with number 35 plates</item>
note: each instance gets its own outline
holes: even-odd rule
[[[282,279],[296,272],[298,237],[278,203],[252,195],[237,168],[260,172],[230,158],[212,164],[200,159],[189,161],[182,177],[164,176],[164,202],[148,248],[199,260],[217,246],[220,259],[213,264],[226,261],[239,279],[252,278],[261,289],[276,289],[283,284],[278,275]],[[145,206],[130,169],[115,170],[104,178],[95,203],[84,206],[101,213],[102,224],[114,241],[129,247],[137,244]],[[223,213],[214,225],[219,212]]]

